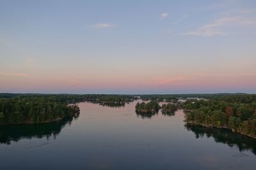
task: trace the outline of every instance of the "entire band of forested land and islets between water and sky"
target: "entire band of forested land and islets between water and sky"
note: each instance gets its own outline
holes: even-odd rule
[[[76,103],[88,101],[103,106],[122,107],[136,99],[136,113],[170,114],[177,109],[185,112],[184,122],[231,129],[256,138],[255,94],[188,94],[188,95],[107,95],[107,94],[0,94],[0,124],[35,124],[78,117]],[[180,102],[180,99],[185,99]],[[172,103],[159,105],[159,101]]]

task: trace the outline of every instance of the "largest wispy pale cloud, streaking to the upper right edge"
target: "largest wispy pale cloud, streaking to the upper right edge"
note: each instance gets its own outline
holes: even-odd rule
[[[179,35],[190,36],[227,36],[227,32],[221,31],[225,26],[256,25],[256,20],[245,17],[223,17],[214,22],[204,25],[195,31],[188,31]]]

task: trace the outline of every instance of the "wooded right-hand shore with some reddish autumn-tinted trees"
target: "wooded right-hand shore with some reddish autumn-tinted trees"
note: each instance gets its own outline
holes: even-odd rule
[[[225,127],[234,132],[256,137],[256,95],[214,96],[209,100],[184,103],[186,122],[212,127]]]

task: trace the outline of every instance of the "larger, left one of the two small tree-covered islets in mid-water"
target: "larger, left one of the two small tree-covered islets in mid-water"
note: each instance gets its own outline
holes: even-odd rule
[[[135,110],[143,113],[156,113],[159,111],[161,107],[159,106],[157,101],[150,101],[148,103],[142,102],[142,103],[137,103],[135,106]]]

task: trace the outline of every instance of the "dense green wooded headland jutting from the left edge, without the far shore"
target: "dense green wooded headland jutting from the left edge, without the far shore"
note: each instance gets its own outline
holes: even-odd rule
[[[0,124],[28,124],[78,117],[76,104],[57,96],[22,96],[0,99]]]

